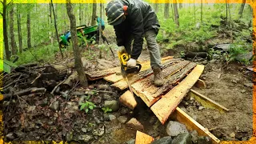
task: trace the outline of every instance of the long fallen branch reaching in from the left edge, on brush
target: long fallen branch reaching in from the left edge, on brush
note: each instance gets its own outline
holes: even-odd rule
[[[46,88],[31,87],[31,88],[26,89],[26,90],[21,90],[21,91],[10,93],[10,94],[4,94],[3,98],[0,98],[0,101],[6,100],[6,99],[11,98],[11,97],[28,95],[28,94],[32,94],[32,93],[45,93],[45,92],[46,92]]]

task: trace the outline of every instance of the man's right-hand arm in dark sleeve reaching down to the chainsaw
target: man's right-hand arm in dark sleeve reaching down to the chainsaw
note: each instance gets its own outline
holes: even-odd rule
[[[138,8],[134,9],[130,14],[130,18],[133,18],[133,21],[131,21],[131,30],[134,35],[134,45],[131,58],[138,59],[139,55],[142,53],[144,34],[142,11]]]

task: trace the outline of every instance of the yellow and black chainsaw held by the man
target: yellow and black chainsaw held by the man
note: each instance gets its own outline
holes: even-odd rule
[[[127,66],[127,62],[130,60],[130,54],[127,54],[126,50],[123,47],[118,50],[118,58],[121,64],[122,77],[126,78],[126,82],[129,86],[130,92],[132,92],[128,77],[134,74],[138,74],[138,72],[142,69],[142,65],[137,63],[135,67]]]

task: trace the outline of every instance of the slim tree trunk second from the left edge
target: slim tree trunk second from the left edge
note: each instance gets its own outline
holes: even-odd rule
[[[17,45],[14,37],[14,6],[10,8],[10,46],[11,46],[11,54],[17,54]]]

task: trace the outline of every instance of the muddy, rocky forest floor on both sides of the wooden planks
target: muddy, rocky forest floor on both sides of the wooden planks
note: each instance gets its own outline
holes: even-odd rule
[[[114,42],[113,39],[110,38],[110,42]],[[91,50],[94,54],[98,54],[96,47],[92,47]],[[65,61],[56,55],[56,63],[72,61],[72,53],[68,55],[69,58]],[[164,54],[162,57],[167,55]],[[111,58],[110,52],[103,53],[102,57],[105,59],[88,61],[87,70],[103,70],[118,66],[118,58]],[[142,50],[139,60],[150,60],[146,49]],[[95,63],[99,65],[94,66]],[[197,63],[202,64],[202,61]],[[193,87],[193,89],[230,111],[220,113],[211,109],[198,110],[190,100],[188,102],[183,100],[180,107],[220,140],[248,140],[252,136],[253,122],[252,72],[238,62],[227,65],[221,60],[211,60],[204,62],[204,65],[205,70],[201,78],[206,82],[206,88]],[[43,94],[40,97],[21,97],[3,102],[6,141],[68,140],[73,143],[83,141],[120,144],[135,138],[136,130],[130,130],[123,123],[130,118],[137,118],[144,126],[143,132],[154,138],[167,135],[166,124],[162,125],[140,98],[137,98],[138,106],[134,110],[120,105],[118,110],[107,114],[99,108],[90,110],[88,114],[80,111],[78,102],[82,96],[89,97],[90,102],[94,102],[96,106],[103,106],[105,101],[118,101],[124,92],[114,90],[109,82],[103,80],[89,84],[90,90],[108,90],[113,93],[81,94],[82,87],[77,86],[68,99],[62,98],[61,95]],[[57,107],[50,106],[53,103],[58,103]]]

